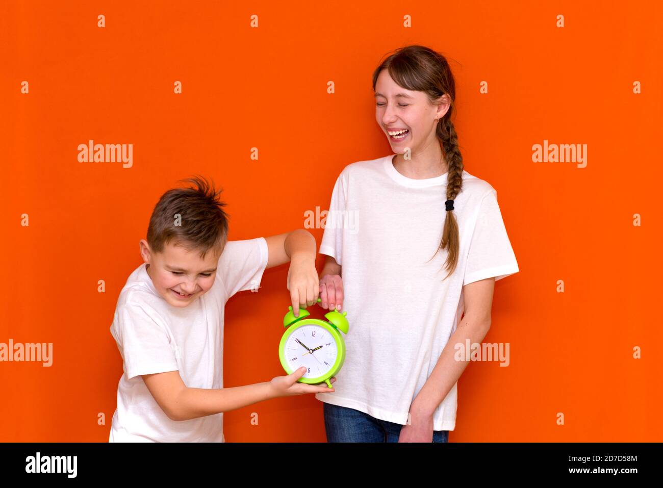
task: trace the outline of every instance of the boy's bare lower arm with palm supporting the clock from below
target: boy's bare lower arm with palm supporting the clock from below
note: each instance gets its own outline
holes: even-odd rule
[[[334,391],[327,385],[298,383],[297,380],[305,372],[306,368],[300,368],[290,375],[278,376],[265,383],[222,389],[188,388],[184,385],[179,371],[143,375],[143,381],[170,420],[190,420],[235,410],[277,396]],[[335,381],[335,378],[330,380],[331,383]]]

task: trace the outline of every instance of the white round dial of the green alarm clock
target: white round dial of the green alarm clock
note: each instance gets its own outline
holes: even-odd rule
[[[283,354],[292,371],[306,366],[302,378],[318,378],[330,371],[336,362],[338,349],[330,332],[321,326],[300,326],[290,334]]]

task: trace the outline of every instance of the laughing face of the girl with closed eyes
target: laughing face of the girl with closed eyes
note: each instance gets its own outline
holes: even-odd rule
[[[449,109],[446,99],[448,95],[442,95],[441,103],[433,105],[426,93],[402,88],[389,70],[382,70],[375,83],[375,119],[387,135],[392,151],[402,154],[410,148],[418,154],[430,145],[440,145],[436,127]]]

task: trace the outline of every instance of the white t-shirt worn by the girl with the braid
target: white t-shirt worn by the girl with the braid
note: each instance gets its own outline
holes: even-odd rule
[[[518,272],[518,263],[497,192],[463,171],[453,202],[458,264],[443,279],[448,252],[436,249],[448,174],[408,178],[394,168],[393,156],[345,166],[333,188],[320,253],[341,265],[349,333],[334,393],[316,398],[406,424],[463,313],[463,285],[505,278]],[[436,408],[433,430],[453,430],[456,408],[457,383]]]

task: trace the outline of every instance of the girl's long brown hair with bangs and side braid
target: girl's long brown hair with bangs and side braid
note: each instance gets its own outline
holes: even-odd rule
[[[458,147],[458,136],[453,128],[452,115],[455,113],[455,82],[449,63],[442,54],[425,46],[405,46],[398,48],[373,72],[373,91],[377,78],[387,68],[392,80],[406,90],[424,91],[432,103],[445,93],[450,97],[450,109],[438,121],[436,135],[442,143],[442,152],[449,166],[447,180],[447,200],[454,200],[463,186],[463,156]],[[444,211],[442,240],[437,249],[448,249],[446,268],[449,274],[455,271],[459,254],[458,224],[453,210]],[[437,253],[436,251],[436,253]],[[431,258],[432,259],[432,258]]]

